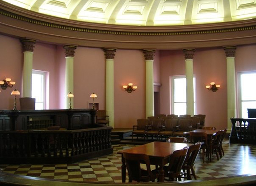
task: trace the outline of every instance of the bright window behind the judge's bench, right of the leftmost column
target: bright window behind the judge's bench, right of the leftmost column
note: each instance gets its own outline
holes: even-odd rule
[[[35,109],[46,109],[46,72],[33,70],[32,97],[35,98]]]

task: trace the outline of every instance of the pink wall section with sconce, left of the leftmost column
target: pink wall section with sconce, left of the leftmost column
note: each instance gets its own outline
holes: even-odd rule
[[[11,78],[16,84],[13,88],[2,90],[0,87],[0,109],[13,109],[14,97],[11,92],[16,88],[21,94],[23,53],[19,40],[0,35],[0,81]],[[17,108],[20,108],[20,96],[17,96]]]

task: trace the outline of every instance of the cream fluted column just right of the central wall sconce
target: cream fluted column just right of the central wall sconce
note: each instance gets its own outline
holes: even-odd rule
[[[154,116],[154,72],[155,50],[143,50],[146,62],[146,118]]]

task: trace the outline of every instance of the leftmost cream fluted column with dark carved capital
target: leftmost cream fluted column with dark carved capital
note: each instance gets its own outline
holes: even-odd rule
[[[33,51],[35,40],[20,40],[23,47],[23,80],[22,80],[22,97],[32,97],[32,70],[33,70]]]

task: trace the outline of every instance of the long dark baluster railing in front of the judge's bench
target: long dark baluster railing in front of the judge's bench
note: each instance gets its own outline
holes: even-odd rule
[[[2,163],[68,163],[113,153],[112,127],[66,131],[1,131]]]

